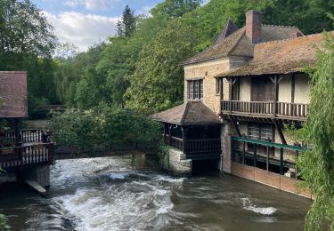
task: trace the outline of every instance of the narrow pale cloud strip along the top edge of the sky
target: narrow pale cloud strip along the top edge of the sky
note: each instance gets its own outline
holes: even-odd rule
[[[114,4],[122,0],[67,0],[64,5],[70,7],[85,6],[86,10],[102,10],[106,11],[114,7]]]

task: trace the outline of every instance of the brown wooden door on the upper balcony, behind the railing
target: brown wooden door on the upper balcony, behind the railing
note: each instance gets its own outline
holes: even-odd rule
[[[269,77],[253,77],[251,84],[251,101],[273,101],[274,85]]]

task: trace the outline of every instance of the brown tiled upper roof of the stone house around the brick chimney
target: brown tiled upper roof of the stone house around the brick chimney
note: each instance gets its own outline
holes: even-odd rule
[[[225,28],[223,29],[221,33],[221,35],[223,34],[222,37],[224,36]],[[262,25],[261,42],[265,43],[265,42],[274,41],[274,40],[288,39],[291,37],[291,34],[294,32],[297,32],[298,34],[303,35],[303,33],[298,28],[294,28],[294,27]],[[234,54],[231,54],[231,52],[240,43],[240,40],[243,36],[245,36],[245,33],[246,33],[246,29],[240,28],[237,31],[233,32],[230,36],[227,36],[225,38],[219,39],[219,36],[218,36],[215,44],[212,44],[205,51],[196,54],[190,59],[183,61],[183,65],[205,61],[205,60],[215,60],[215,59],[227,57],[229,55],[234,55]],[[253,46],[250,40],[249,40],[248,46],[249,47]],[[249,57],[249,55],[245,57]]]

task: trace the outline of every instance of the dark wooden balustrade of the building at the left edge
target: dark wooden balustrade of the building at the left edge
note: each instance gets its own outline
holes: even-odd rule
[[[15,167],[51,160],[51,143],[0,148],[0,167]]]

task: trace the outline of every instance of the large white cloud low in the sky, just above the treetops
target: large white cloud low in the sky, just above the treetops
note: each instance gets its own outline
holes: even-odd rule
[[[75,44],[80,51],[115,34],[118,17],[106,17],[80,12],[61,12],[54,15],[44,12],[53,24],[54,33],[61,42]]]

